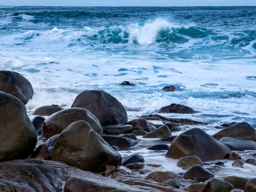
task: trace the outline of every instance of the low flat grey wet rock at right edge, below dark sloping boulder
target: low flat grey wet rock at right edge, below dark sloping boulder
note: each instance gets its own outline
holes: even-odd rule
[[[256,142],[251,140],[241,140],[237,138],[221,138],[219,142],[223,143],[230,150],[244,151],[244,150],[256,150]]]

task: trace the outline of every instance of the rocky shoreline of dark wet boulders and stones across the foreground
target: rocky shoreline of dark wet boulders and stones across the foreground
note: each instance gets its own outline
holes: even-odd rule
[[[25,104],[33,88],[25,77],[0,71],[0,91],[0,191],[256,191],[256,174],[215,174],[223,159],[256,166],[256,132],[246,122],[223,124],[213,136],[182,132],[205,123],[160,115],[195,113],[179,104],[128,122],[123,105],[101,90],[81,92],[71,108],[42,106],[31,121]],[[121,155],[136,147],[177,159],[183,173],[161,170],[140,153]]]

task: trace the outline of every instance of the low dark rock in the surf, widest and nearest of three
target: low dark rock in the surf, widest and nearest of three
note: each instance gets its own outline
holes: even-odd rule
[[[171,104],[158,110],[158,113],[193,114],[195,111],[188,106]]]

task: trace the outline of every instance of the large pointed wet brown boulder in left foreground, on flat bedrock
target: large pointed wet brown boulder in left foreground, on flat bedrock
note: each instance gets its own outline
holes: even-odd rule
[[[61,132],[51,159],[93,172],[103,171],[105,165],[121,164],[121,155],[84,121],[74,122]]]

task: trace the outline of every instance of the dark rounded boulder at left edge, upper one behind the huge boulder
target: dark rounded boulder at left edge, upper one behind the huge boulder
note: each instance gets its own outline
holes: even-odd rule
[[[24,104],[34,93],[31,83],[24,76],[9,70],[0,70],[0,91],[19,98]]]

